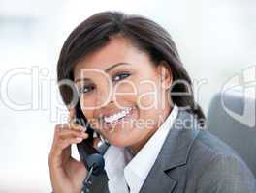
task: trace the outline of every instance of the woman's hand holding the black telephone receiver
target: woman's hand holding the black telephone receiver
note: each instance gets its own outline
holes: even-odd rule
[[[70,110],[70,120],[75,109]],[[71,145],[88,138],[84,128],[74,124],[57,124],[48,155],[48,166],[54,193],[80,193],[87,170],[81,161],[71,157]]]

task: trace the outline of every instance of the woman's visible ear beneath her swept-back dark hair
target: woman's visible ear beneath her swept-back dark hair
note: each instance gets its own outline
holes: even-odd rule
[[[161,87],[168,90],[173,82],[173,74],[169,64],[166,61],[161,61],[157,66],[157,71],[159,74]]]

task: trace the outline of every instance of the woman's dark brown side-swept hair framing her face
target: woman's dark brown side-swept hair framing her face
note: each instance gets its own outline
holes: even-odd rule
[[[171,101],[186,109],[199,119],[205,120],[202,108],[196,103],[192,91],[192,82],[184,69],[177,53],[176,44],[170,34],[154,21],[136,14],[120,12],[102,12],[93,14],[70,34],[64,42],[57,64],[58,81],[74,80],[75,65],[88,54],[99,50],[110,42],[110,37],[121,35],[134,46],[148,54],[157,65],[165,61],[172,70],[173,82],[184,81],[188,84],[174,84],[171,87]],[[66,105],[72,101],[73,92],[65,86],[59,86],[60,94]],[[190,95],[172,95],[172,93],[190,93]]]

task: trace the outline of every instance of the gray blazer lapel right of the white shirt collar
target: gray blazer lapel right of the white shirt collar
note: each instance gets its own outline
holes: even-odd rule
[[[170,129],[140,193],[171,193],[179,182],[183,183],[182,179],[186,174],[184,170],[178,171],[177,166],[186,164],[189,150],[198,134],[198,130],[193,126],[195,123],[196,120],[191,114],[182,110],[178,111],[175,123]]]

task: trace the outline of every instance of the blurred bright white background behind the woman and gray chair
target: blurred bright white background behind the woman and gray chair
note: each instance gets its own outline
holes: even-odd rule
[[[176,41],[198,87],[197,101],[208,113],[210,99],[225,82],[256,65],[255,10],[255,0],[0,0],[0,192],[51,190],[53,129],[67,119],[56,63],[82,20],[123,11],[162,25]]]

